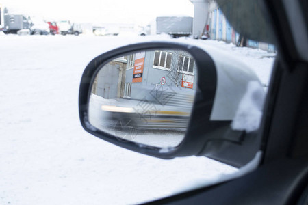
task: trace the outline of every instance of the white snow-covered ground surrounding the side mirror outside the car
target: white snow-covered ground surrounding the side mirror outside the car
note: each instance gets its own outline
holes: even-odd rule
[[[79,81],[88,62],[153,39],[0,36],[0,204],[135,204],[237,170],[205,157],[156,159],[81,128]],[[235,53],[268,84],[274,59],[265,51],[198,43]]]

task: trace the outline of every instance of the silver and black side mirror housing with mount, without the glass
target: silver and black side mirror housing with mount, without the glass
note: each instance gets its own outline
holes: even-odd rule
[[[116,57],[149,49],[187,51],[194,57],[198,69],[198,84],[188,129],[183,141],[176,147],[157,148],[119,139],[110,133],[95,128],[89,122],[89,96],[94,77],[100,68]],[[259,150],[259,141],[255,132],[248,134],[250,135],[249,140],[244,140],[247,136],[245,131],[234,131],[231,128],[231,122],[235,118],[240,100],[246,93],[248,83],[251,81],[259,83],[259,79],[254,72],[246,65],[235,61],[232,57],[214,47],[209,46],[201,49],[197,46],[177,42],[131,44],[103,53],[86,66],[79,89],[79,117],[81,125],[88,133],[129,150],[162,159],[192,155],[208,156],[229,165],[241,167],[253,159],[255,153]],[[261,85],[261,83],[259,84]],[[245,154],[242,153],[243,149],[240,148],[241,146],[247,148],[247,146],[243,146],[244,143],[248,143],[250,146],[245,149]],[[235,154],[226,157],[225,151],[229,149],[235,150]]]

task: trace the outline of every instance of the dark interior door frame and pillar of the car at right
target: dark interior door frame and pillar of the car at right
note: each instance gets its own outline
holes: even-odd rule
[[[279,56],[258,134],[264,152],[261,164],[230,182],[149,204],[307,204],[308,35],[303,12],[307,1],[266,1],[264,5],[273,23]]]

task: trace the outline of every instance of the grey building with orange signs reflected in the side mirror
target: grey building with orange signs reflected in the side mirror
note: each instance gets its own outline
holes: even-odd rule
[[[186,51],[142,51],[103,66],[92,92],[105,99],[136,100],[152,90],[189,93],[196,90],[196,72],[194,58]]]

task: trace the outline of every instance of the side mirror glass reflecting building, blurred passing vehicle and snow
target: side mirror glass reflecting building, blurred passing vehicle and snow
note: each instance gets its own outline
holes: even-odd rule
[[[120,140],[175,147],[185,135],[196,90],[190,53],[129,53],[101,67],[92,83],[89,121]]]

